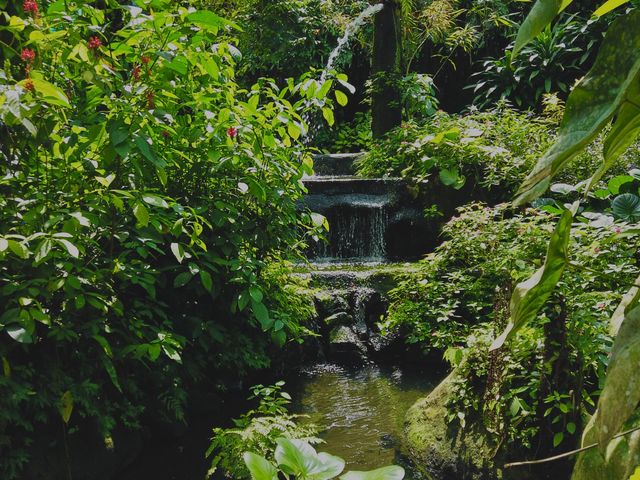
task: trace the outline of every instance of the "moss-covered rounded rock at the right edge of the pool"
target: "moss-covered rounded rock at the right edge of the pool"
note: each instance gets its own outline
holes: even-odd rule
[[[446,421],[448,399],[453,395],[454,371],[431,394],[407,412],[405,450],[415,465],[432,480],[501,479],[491,458],[497,446],[474,428],[464,432]]]

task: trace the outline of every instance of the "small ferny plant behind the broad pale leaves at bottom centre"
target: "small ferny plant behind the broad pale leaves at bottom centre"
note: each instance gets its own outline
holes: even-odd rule
[[[207,457],[211,457],[209,475],[221,471],[229,478],[248,478],[243,454],[254,452],[262,457],[273,459],[278,439],[286,437],[320,443],[316,438],[318,427],[306,420],[305,416],[293,415],[288,411],[291,401],[289,394],[282,390],[284,382],[264,387],[252,388],[250,400],[257,399],[259,404],[237,420],[235,428],[215,428]],[[261,462],[257,460],[258,464]],[[251,469],[251,467],[250,467]]]

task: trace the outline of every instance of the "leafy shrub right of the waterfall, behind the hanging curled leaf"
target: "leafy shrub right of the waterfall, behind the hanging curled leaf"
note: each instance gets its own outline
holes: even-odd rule
[[[402,327],[409,342],[446,350],[458,366],[449,420],[463,428],[480,421],[504,444],[531,446],[541,417],[553,425],[554,446],[579,431],[577,419],[593,411],[606,368],[608,319],[628,288],[625,278],[639,271],[635,230],[580,217],[572,263],[554,300],[508,352],[490,353],[508,317],[511,288],[537,269],[553,224],[552,216],[533,209],[511,214],[504,205],[464,207],[445,226],[442,246],[391,292],[386,328]],[[566,325],[562,348],[572,392],[541,385],[552,348],[543,330],[559,321]]]

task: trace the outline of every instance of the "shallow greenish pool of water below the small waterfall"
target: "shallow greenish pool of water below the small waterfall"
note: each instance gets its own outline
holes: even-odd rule
[[[324,428],[318,445],[345,459],[347,470],[371,470],[391,464],[419,477],[400,458],[404,415],[433,389],[433,374],[375,365],[344,367],[319,364],[287,382],[295,413]]]

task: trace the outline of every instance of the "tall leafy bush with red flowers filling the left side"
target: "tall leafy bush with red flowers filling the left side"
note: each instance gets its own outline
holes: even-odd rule
[[[304,333],[281,260],[321,228],[300,140],[331,84],[240,88],[235,24],[169,5],[2,13],[3,478],[45,425],[183,421]]]

